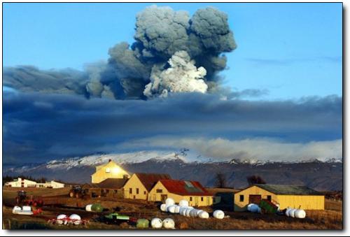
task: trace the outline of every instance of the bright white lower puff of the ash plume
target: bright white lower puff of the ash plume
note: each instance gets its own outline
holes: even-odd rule
[[[186,51],[175,52],[169,59],[169,65],[163,71],[153,68],[151,82],[144,90],[145,96],[166,97],[168,92],[207,92],[208,86],[203,80],[207,71],[202,66],[197,69]]]

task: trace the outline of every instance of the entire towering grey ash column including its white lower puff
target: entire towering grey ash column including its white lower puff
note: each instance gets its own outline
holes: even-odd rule
[[[123,42],[109,49],[107,63],[88,65],[78,82],[58,83],[52,91],[61,92],[63,87],[88,98],[112,99],[214,92],[217,73],[226,66],[222,54],[236,48],[228,16],[211,7],[197,10],[191,18],[183,10],[150,6],[137,14],[134,39],[132,45]],[[4,85],[23,87],[25,80],[11,77],[15,69],[11,70],[5,70]],[[50,79],[47,72],[43,74]]]

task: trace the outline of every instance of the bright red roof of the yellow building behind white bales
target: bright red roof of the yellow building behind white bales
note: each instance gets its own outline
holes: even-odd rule
[[[213,196],[200,182],[187,180],[159,180],[172,194],[181,196]]]

